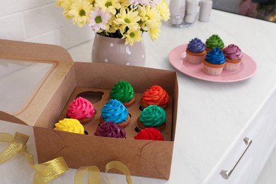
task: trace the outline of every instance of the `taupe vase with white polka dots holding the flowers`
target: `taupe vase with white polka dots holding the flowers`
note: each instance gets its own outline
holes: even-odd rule
[[[125,39],[95,34],[92,62],[144,66],[146,60],[144,41],[125,45]]]

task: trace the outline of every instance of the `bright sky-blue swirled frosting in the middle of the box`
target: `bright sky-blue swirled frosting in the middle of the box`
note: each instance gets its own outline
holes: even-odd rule
[[[127,120],[127,108],[119,100],[110,99],[100,110],[105,122],[119,123]]]

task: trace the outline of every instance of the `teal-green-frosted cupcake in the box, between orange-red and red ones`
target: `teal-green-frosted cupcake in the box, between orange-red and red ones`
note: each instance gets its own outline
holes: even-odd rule
[[[163,131],[166,127],[166,112],[157,105],[149,105],[144,108],[137,119],[137,127],[140,130],[153,127]]]

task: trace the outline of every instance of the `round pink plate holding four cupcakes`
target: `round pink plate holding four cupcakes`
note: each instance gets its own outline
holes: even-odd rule
[[[181,71],[183,74],[192,76],[196,79],[202,79],[205,81],[214,81],[214,82],[235,82],[248,79],[253,76],[257,69],[257,65],[251,57],[243,53],[243,62],[241,62],[239,68],[236,71],[226,71],[223,70],[222,74],[219,76],[209,76],[205,74],[202,70],[203,64],[190,64],[186,61],[185,50],[187,44],[180,45],[168,54],[168,59],[171,62],[171,65]]]

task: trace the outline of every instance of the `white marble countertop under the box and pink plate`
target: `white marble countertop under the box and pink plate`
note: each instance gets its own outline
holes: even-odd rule
[[[258,69],[250,79],[234,83],[202,81],[178,72],[178,124],[171,178],[158,180],[132,176],[134,183],[204,182],[276,86],[275,33],[275,23],[212,10],[207,23],[196,21],[188,28],[173,28],[164,23],[159,39],[154,42],[147,34],[144,35],[145,67],[175,70],[168,61],[168,53],[174,47],[188,43],[195,37],[206,40],[210,35],[217,34],[225,45],[238,45],[253,58]],[[90,62],[92,45],[93,40],[69,49],[69,53],[74,61]],[[70,169],[52,183],[73,183],[74,172],[74,169]],[[120,175],[110,174],[110,178],[114,183],[125,180]],[[33,178],[24,179],[26,182],[23,183],[30,183]],[[104,176],[102,183],[106,183]]]

